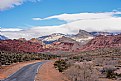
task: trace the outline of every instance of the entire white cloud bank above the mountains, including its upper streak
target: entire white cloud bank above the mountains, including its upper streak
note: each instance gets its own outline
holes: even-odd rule
[[[121,17],[116,17],[116,14],[121,14],[121,12],[61,14],[44,19],[35,18],[35,20],[57,18],[67,21],[67,23],[58,26],[32,27],[21,31],[2,31],[1,34],[12,39],[21,37],[30,39],[52,33],[76,34],[79,29],[87,31],[121,31]]]

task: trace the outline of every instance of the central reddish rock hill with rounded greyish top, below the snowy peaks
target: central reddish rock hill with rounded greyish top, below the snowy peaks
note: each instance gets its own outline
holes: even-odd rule
[[[71,52],[79,49],[81,44],[71,38],[62,37],[57,42],[52,44],[46,44],[44,46],[44,52]]]

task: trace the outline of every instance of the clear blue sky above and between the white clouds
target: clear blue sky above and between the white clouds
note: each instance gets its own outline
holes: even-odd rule
[[[0,27],[29,28],[33,26],[61,25],[66,23],[58,19],[33,21],[32,18],[45,18],[59,14],[83,12],[121,11],[121,0],[41,0],[26,1],[19,6],[0,12]]]

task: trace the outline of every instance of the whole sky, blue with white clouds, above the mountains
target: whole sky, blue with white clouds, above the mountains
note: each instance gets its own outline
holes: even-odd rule
[[[0,0],[0,34],[8,38],[79,29],[121,31],[121,0]]]

